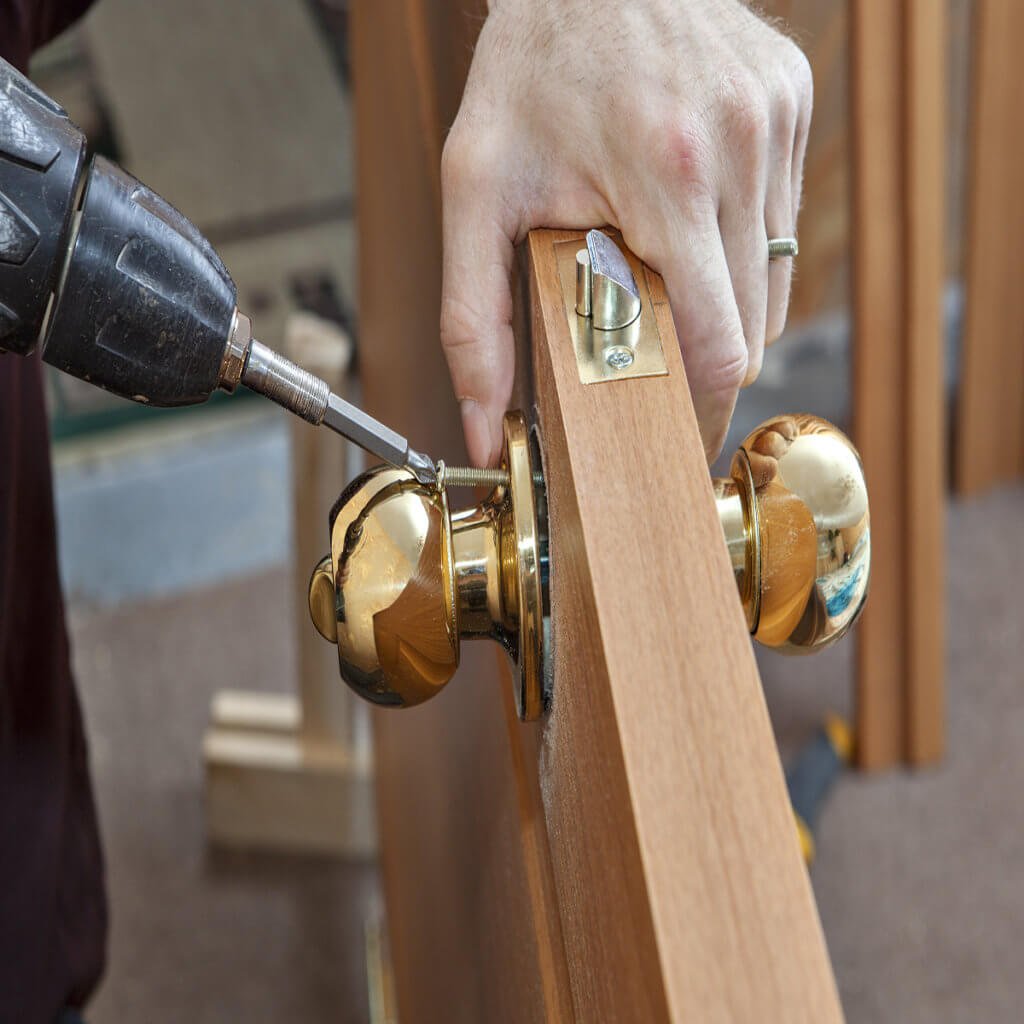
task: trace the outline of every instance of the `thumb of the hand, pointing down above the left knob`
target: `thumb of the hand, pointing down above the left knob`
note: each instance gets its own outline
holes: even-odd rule
[[[501,205],[493,185],[445,163],[441,347],[476,466],[498,460],[515,372],[512,232]]]

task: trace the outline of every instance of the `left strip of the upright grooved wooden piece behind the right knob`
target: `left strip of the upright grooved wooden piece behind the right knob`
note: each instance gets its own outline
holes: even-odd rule
[[[871,502],[871,594],[857,627],[857,760],[902,760],[903,118],[900,5],[855,0],[850,11],[853,150],[853,439]]]

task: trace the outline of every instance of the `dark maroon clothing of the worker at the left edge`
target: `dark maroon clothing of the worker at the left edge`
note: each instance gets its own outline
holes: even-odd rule
[[[0,56],[87,0],[0,0]],[[3,296],[0,295],[0,302]],[[81,1007],[102,971],[102,854],[57,574],[38,353],[0,355],[0,1021]]]

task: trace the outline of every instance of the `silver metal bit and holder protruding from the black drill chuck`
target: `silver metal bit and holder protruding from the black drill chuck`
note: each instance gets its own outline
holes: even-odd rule
[[[421,483],[432,485],[436,482],[433,461],[410,447],[401,434],[345,401],[314,374],[255,339],[249,344],[242,383],[307,423],[323,424],[371,455],[410,470]]]

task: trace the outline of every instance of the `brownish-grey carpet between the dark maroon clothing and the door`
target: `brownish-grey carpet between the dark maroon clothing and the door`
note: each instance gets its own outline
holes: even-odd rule
[[[217,855],[205,841],[210,697],[286,688],[288,583],[274,572],[72,615],[113,918],[90,1024],[367,1020],[375,868]]]

